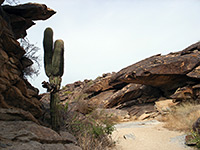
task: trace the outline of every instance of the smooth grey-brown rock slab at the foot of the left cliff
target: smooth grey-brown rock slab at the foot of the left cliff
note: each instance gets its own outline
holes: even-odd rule
[[[57,132],[31,121],[0,121],[0,149],[80,150],[68,132]]]

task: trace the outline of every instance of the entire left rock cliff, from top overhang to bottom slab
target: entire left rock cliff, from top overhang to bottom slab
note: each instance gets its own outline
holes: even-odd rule
[[[17,39],[26,36],[34,20],[46,20],[55,11],[43,4],[2,5],[0,1],[0,149],[80,150],[68,132],[41,125],[43,106],[38,89],[23,78],[33,62],[24,57]],[[1,6],[2,5],[2,6]]]

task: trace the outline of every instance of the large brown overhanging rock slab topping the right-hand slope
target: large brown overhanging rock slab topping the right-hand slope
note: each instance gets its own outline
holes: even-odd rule
[[[200,64],[200,42],[195,45],[177,53],[155,55],[128,66],[113,76],[111,83],[150,85],[164,92],[194,83],[194,78],[198,79],[194,73],[198,72]]]

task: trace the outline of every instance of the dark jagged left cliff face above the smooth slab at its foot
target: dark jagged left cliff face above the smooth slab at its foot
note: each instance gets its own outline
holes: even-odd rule
[[[0,6],[0,108],[42,116],[39,91],[23,78],[23,70],[33,62],[24,57],[25,50],[16,39],[26,35],[32,20],[45,20],[54,13],[46,5],[35,3]]]

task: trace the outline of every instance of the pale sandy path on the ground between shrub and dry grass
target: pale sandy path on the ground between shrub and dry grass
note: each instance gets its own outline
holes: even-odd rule
[[[184,133],[169,131],[156,120],[116,125],[117,150],[194,150],[184,145]]]

